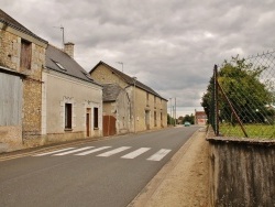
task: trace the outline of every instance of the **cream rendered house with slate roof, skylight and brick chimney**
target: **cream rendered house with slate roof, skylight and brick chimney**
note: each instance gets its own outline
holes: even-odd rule
[[[48,45],[42,80],[43,142],[102,135],[102,86],[65,50]]]

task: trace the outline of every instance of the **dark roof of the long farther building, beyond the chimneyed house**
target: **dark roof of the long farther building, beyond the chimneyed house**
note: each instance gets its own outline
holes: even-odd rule
[[[102,61],[100,61],[100,62],[89,72],[89,74],[91,74],[94,70],[96,70],[97,67],[98,67],[99,65],[105,65],[106,67],[108,67],[109,69],[111,69],[114,74],[117,74],[117,76],[121,77],[127,84],[132,85],[132,86],[134,85],[134,81],[133,81],[133,78],[132,78],[132,77],[130,77],[129,75],[127,75],[127,74],[124,74],[124,73],[122,73],[122,72],[120,72],[120,70],[118,70],[118,69],[116,69],[114,67],[112,67],[112,66],[106,64],[106,63],[102,62]],[[139,80],[135,81],[135,86],[136,86],[138,88],[141,88],[141,89],[143,89],[143,90],[145,90],[145,91],[147,91],[147,92],[150,92],[150,94],[152,94],[152,95],[155,95],[155,96],[157,96],[157,97],[160,97],[160,98],[162,98],[162,99],[164,99],[164,100],[167,100],[167,99],[163,98],[161,95],[158,95],[155,90],[153,90],[152,88],[150,88],[148,86],[142,84],[142,83],[139,81]]]

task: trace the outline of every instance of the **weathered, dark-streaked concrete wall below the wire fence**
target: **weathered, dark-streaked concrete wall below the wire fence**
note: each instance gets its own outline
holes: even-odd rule
[[[212,138],[211,206],[274,206],[275,141]]]

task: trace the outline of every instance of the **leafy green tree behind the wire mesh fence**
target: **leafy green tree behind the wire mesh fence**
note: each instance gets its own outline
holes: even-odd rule
[[[266,105],[272,102],[272,95],[266,85],[260,80],[261,74],[265,67],[253,67],[245,59],[239,56],[232,57],[231,62],[224,61],[218,72],[218,81],[224,94],[231,101],[234,110],[242,122],[264,122],[267,112]],[[212,103],[213,77],[202,96],[201,106],[210,120],[210,110]],[[232,111],[229,103],[222,98],[219,91],[219,117],[220,120],[233,122]]]

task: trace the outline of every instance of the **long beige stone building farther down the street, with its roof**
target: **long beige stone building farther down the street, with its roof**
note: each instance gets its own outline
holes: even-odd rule
[[[89,73],[98,83],[117,84],[127,91],[131,132],[167,127],[167,100],[152,88],[103,62],[99,62]]]

